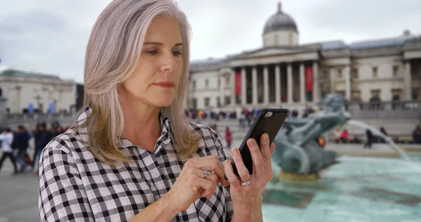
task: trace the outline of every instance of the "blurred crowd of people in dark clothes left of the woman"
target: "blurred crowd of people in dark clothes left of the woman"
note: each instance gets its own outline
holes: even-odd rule
[[[16,131],[10,128],[1,129],[0,143],[3,154],[0,158],[0,171],[6,159],[10,159],[13,164],[13,175],[25,173],[30,168],[34,174],[38,175],[38,161],[41,155],[41,150],[53,139],[55,136],[65,132],[62,126],[57,126],[51,130],[47,130],[45,123],[36,125],[34,131],[28,131],[24,126],[18,126]],[[29,141],[34,139],[34,145],[30,145]],[[28,149],[34,148],[32,158],[29,157]],[[19,169],[18,169],[18,166]]]

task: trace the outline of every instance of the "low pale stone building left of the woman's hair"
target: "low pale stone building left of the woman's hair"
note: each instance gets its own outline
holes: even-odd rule
[[[76,110],[76,83],[59,77],[4,70],[0,73],[0,89],[6,98],[9,113],[74,112]]]

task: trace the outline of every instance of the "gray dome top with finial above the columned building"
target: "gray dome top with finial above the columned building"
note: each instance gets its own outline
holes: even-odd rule
[[[286,13],[283,13],[281,2],[278,3],[278,11],[267,20],[263,34],[279,30],[298,32],[297,25],[293,18]]]

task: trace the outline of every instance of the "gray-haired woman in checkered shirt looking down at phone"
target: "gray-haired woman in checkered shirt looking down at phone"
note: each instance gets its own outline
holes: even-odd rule
[[[237,178],[215,131],[185,118],[188,67],[173,1],[105,8],[86,48],[83,110],[41,155],[41,221],[262,221],[274,145],[249,141],[253,175],[233,149]]]

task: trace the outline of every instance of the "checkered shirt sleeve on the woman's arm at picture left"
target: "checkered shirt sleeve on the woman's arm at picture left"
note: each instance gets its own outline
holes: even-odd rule
[[[41,221],[95,221],[72,152],[55,138],[41,152],[39,216]]]

